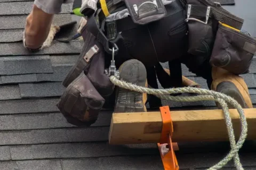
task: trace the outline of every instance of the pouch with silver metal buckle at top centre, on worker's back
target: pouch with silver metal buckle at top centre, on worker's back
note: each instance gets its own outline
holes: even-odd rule
[[[166,15],[162,0],[124,0],[134,23],[147,24]]]

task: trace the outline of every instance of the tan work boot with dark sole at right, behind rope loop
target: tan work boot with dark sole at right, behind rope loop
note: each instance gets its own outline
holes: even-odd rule
[[[253,108],[248,87],[242,77],[218,67],[212,67],[212,78],[212,90],[233,97],[243,108]]]

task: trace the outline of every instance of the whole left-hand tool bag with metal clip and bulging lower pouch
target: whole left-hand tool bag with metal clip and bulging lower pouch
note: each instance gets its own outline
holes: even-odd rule
[[[76,64],[68,73],[57,104],[70,124],[90,126],[114,91],[114,84],[105,73],[105,50],[85,26],[82,30],[84,47]]]

